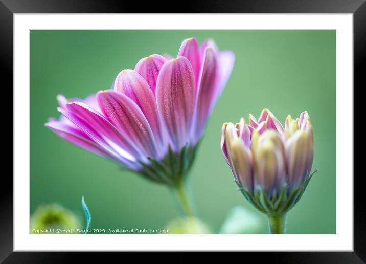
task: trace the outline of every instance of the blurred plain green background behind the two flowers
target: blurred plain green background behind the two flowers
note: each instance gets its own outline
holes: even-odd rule
[[[56,95],[84,98],[109,89],[123,69],[150,54],[175,56],[194,36],[213,38],[236,62],[208,123],[190,180],[198,216],[218,230],[242,205],[266,218],[236,190],[219,147],[222,123],[238,122],[269,108],[286,116],[310,114],[315,133],[313,169],[301,201],[289,212],[289,234],[336,233],[336,31],[335,30],[31,30],[30,212],[59,203],[84,221],[81,196],[93,216],[91,228],[161,229],[179,216],[172,193],[117,165],[66,143],[44,127],[58,117]]]

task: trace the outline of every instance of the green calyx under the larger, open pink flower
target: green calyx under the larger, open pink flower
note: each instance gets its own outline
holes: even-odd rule
[[[149,158],[150,164],[140,162],[142,169],[138,172],[151,181],[174,187],[190,170],[197,146],[198,144],[187,144],[178,153],[174,153],[169,146],[167,156],[163,160]]]

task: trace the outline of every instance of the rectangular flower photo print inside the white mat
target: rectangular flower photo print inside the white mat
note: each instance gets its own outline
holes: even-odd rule
[[[336,30],[29,37],[30,234],[336,234]]]

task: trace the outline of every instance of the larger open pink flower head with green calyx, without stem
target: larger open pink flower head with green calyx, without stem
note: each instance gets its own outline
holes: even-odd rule
[[[143,58],[118,74],[112,90],[85,100],[59,95],[62,116],[45,125],[75,145],[170,183],[189,169],[233,64],[234,54],[220,52],[212,40],[199,47],[195,38],[186,39],[177,58]]]

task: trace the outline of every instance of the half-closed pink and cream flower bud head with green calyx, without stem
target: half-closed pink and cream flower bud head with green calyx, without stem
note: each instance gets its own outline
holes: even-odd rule
[[[285,202],[292,197],[293,204],[287,203],[292,207],[310,180],[314,155],[310,117],[306,111],[295,120],[289,115],[283,128],[264,109],[258,120],[249,115],[249,124],[244,118],[235,125],[224,123],[221,149],[248,201],[268,214],[284,213],[289,210]],[[259,198],[261,193],[264,198]],[[280,196],[283,204],[275,203]]]

